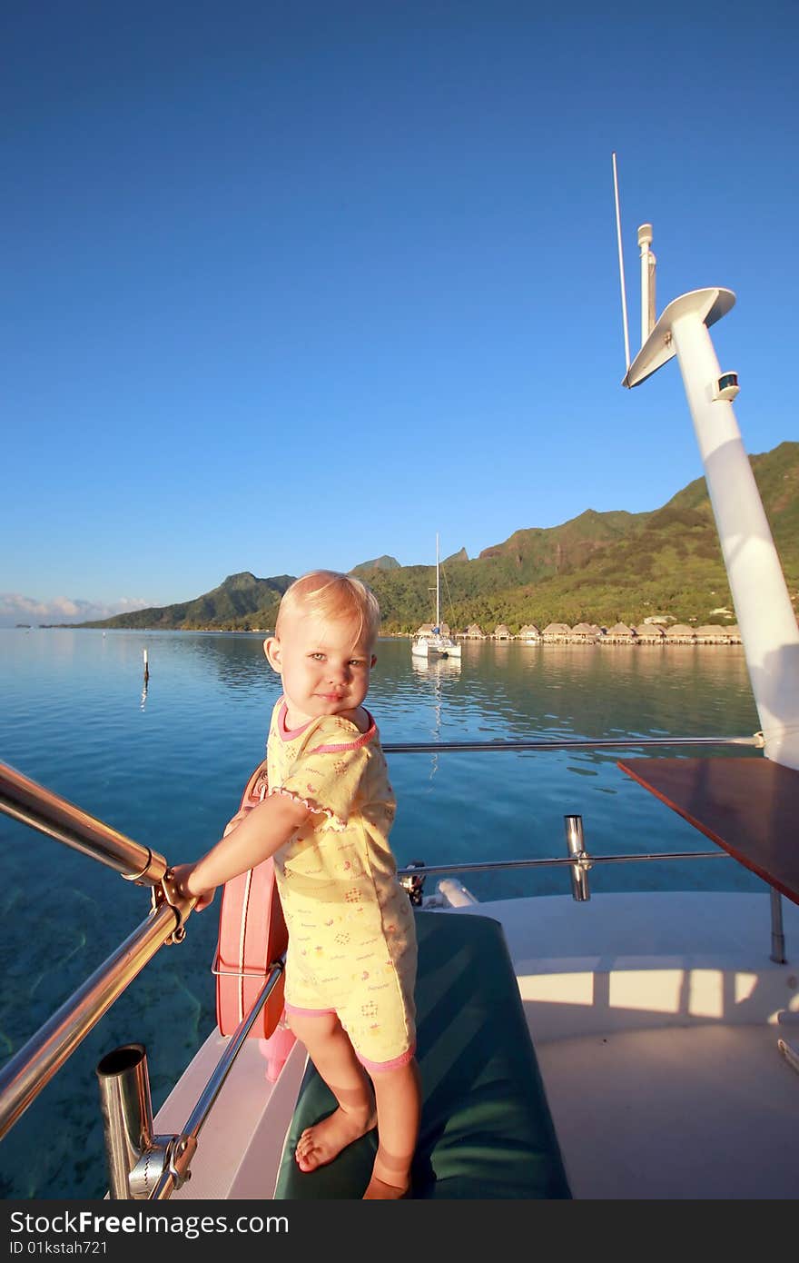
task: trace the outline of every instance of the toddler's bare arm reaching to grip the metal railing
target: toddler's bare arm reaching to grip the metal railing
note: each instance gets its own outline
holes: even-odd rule
[[[284,794],[264,798],[207,855],[194,864],[174,868],[173,883],[178,893],[196,898],[196,911],[201,912],[213,902],[217,885],[274,855],[308,816],[308,807],[295,798]]]

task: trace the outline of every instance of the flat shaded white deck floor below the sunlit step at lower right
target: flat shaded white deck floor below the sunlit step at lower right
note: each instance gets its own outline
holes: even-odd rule
[[[539,1066],[574,1197],[799,1196],[799,1074],[774,1028],[578,1036]]]

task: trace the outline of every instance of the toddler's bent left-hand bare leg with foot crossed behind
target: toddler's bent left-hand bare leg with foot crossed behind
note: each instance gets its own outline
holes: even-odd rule
[[[366,1071],[334,1013],[289,1012],[288,1022],[338,1101],[337,1110],[305,1128],[297,1142],[299,1170],[316,1171],[375,1125],[375,1106]]]

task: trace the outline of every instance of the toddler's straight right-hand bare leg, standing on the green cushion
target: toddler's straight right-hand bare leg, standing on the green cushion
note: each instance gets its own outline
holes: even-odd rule
[[[415,1058],[396,1070],[372,1071],[377,1103],[377,1156],[365,1199],[403,1197],[419,1135],[422,1086]]]

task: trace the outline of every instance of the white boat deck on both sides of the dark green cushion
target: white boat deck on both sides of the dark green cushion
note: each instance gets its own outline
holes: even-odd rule
[[[799,907],[769,895],[606,894],[442,911],[501,921],[576,1197],[799,1196]],[[179,1130],[226,1041],[199,1050],[157,1118]],[[270,1197],[304,1067],[276,1089],[247,1046],[177,1197]]]

